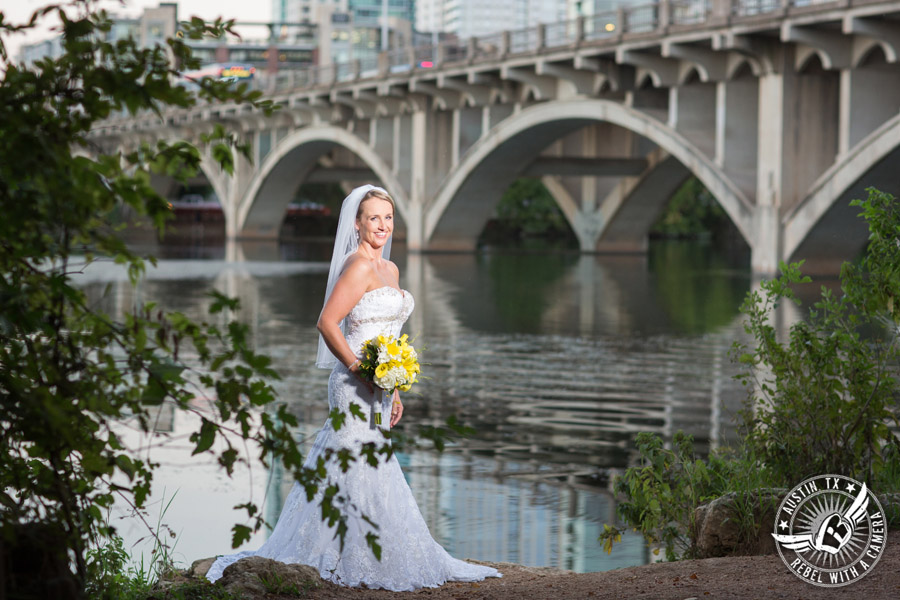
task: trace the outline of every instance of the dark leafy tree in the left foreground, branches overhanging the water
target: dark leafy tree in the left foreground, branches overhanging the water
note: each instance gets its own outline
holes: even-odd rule
[[[116,496],[142,507],[156,466],[125,447],[114,424],[132,418],[153,435],[153,414],[163,403],[199,416],[190,437],[194,453],[214,453],[229,474],[244,460],[245,447],[256,449],[264,463],[281,460],[310,498],[319,492],[322,518],[343,538],[347,499],[334,486],[318,489],[325,461],[333,457],[302,467],[291,432],[296,420],[274,404],[268,381],[277,374],[268,357],[251,348],[246,325],[196,323],[152,304],[115,321],[73,285],[74,273],[101,258],[127,265],[132,282],[146,260],[153,262],[129,250],[113,225],[116,211],[128,206],[164,228],[170,211],[153,191],[151,175],[183,182],[199,171],[202,152],[228,172],[237,155],[248,155],[248,147],[221,127],[195,143],[106,154],[92,138],[104,119],[162,115],[204,102],[248,103],[264,112],[272,107],[245,85],[204,80],[196,89],[178,86],[173,61],[184,69],[199,66],[183,39],[153,48],[130,39],[104,41],[112,22],[95,0],[48,6],[22,25],[0,13],[0,56],[8,60],[9,35],[49,17],[60,22],[62,56],[29,68],[9,64],[0,81],[0,547],[15,547],[38,526],[46,532],[39,545],[58,544],[53,560],[64,571],[74,568],[74,586],[84,590],[86,549],[112,533],[104,509]],[[181,24],[190,39],[219,37],[230,27],[221,20]],[[235,308],[235,300],[211,299],[212,314]],[[198,396],[213,400],[199,407]],[[339,427],[345,415],[333,417]],[[390,451],[385,444],[364,455],[371,462]],[[355,460],[338,454],[345,467]],[[234,526],[235,545],[262,523],[254,504],[239,508],[251,524]],[[377,554],[374,536],[370,546]],[[43,589],[47,597],[62,595],[61,588]]]

